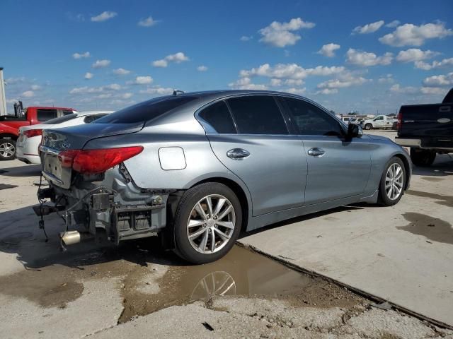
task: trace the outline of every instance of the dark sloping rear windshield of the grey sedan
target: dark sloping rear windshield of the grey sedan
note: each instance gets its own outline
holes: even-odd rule
[[[197,97],[193,96],[156,97],[108,114],[106,117],[93,121],[92,124],[134,124],[149,121],[195,99]]]

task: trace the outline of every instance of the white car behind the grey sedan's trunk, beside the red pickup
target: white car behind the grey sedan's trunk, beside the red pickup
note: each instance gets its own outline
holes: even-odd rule
[[[43,124],[23,126],[19,129],[16,141],[16,157],[27,164],[40,164],[38,146],[41,143],[43,129],[61,129],[63,127],[89,124],[113,111],[74,112],[64,117],[45,121]]]

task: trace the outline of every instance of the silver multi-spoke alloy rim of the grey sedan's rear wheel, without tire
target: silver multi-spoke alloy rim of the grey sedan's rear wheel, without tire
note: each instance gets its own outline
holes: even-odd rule
[[[220,251],[231,239],[236,214],[231,202],[219,194],[200,199],[189,215],[187,236],[190,245],[202,254]]]

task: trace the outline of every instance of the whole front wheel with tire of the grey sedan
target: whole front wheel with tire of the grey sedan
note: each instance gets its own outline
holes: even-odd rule
[[[394,206],[401,200],[405,187],[406,167],[399,157],[392,157],[379,182],[379,203],[382,206]]]

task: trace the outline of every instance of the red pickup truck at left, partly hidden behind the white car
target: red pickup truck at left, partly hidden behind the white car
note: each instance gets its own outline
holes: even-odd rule
[[[41,124],[73,112],[74,109],[65,107],[28,107],[21,116],[0,116],[0,161],[16,156],[19,127]]]

